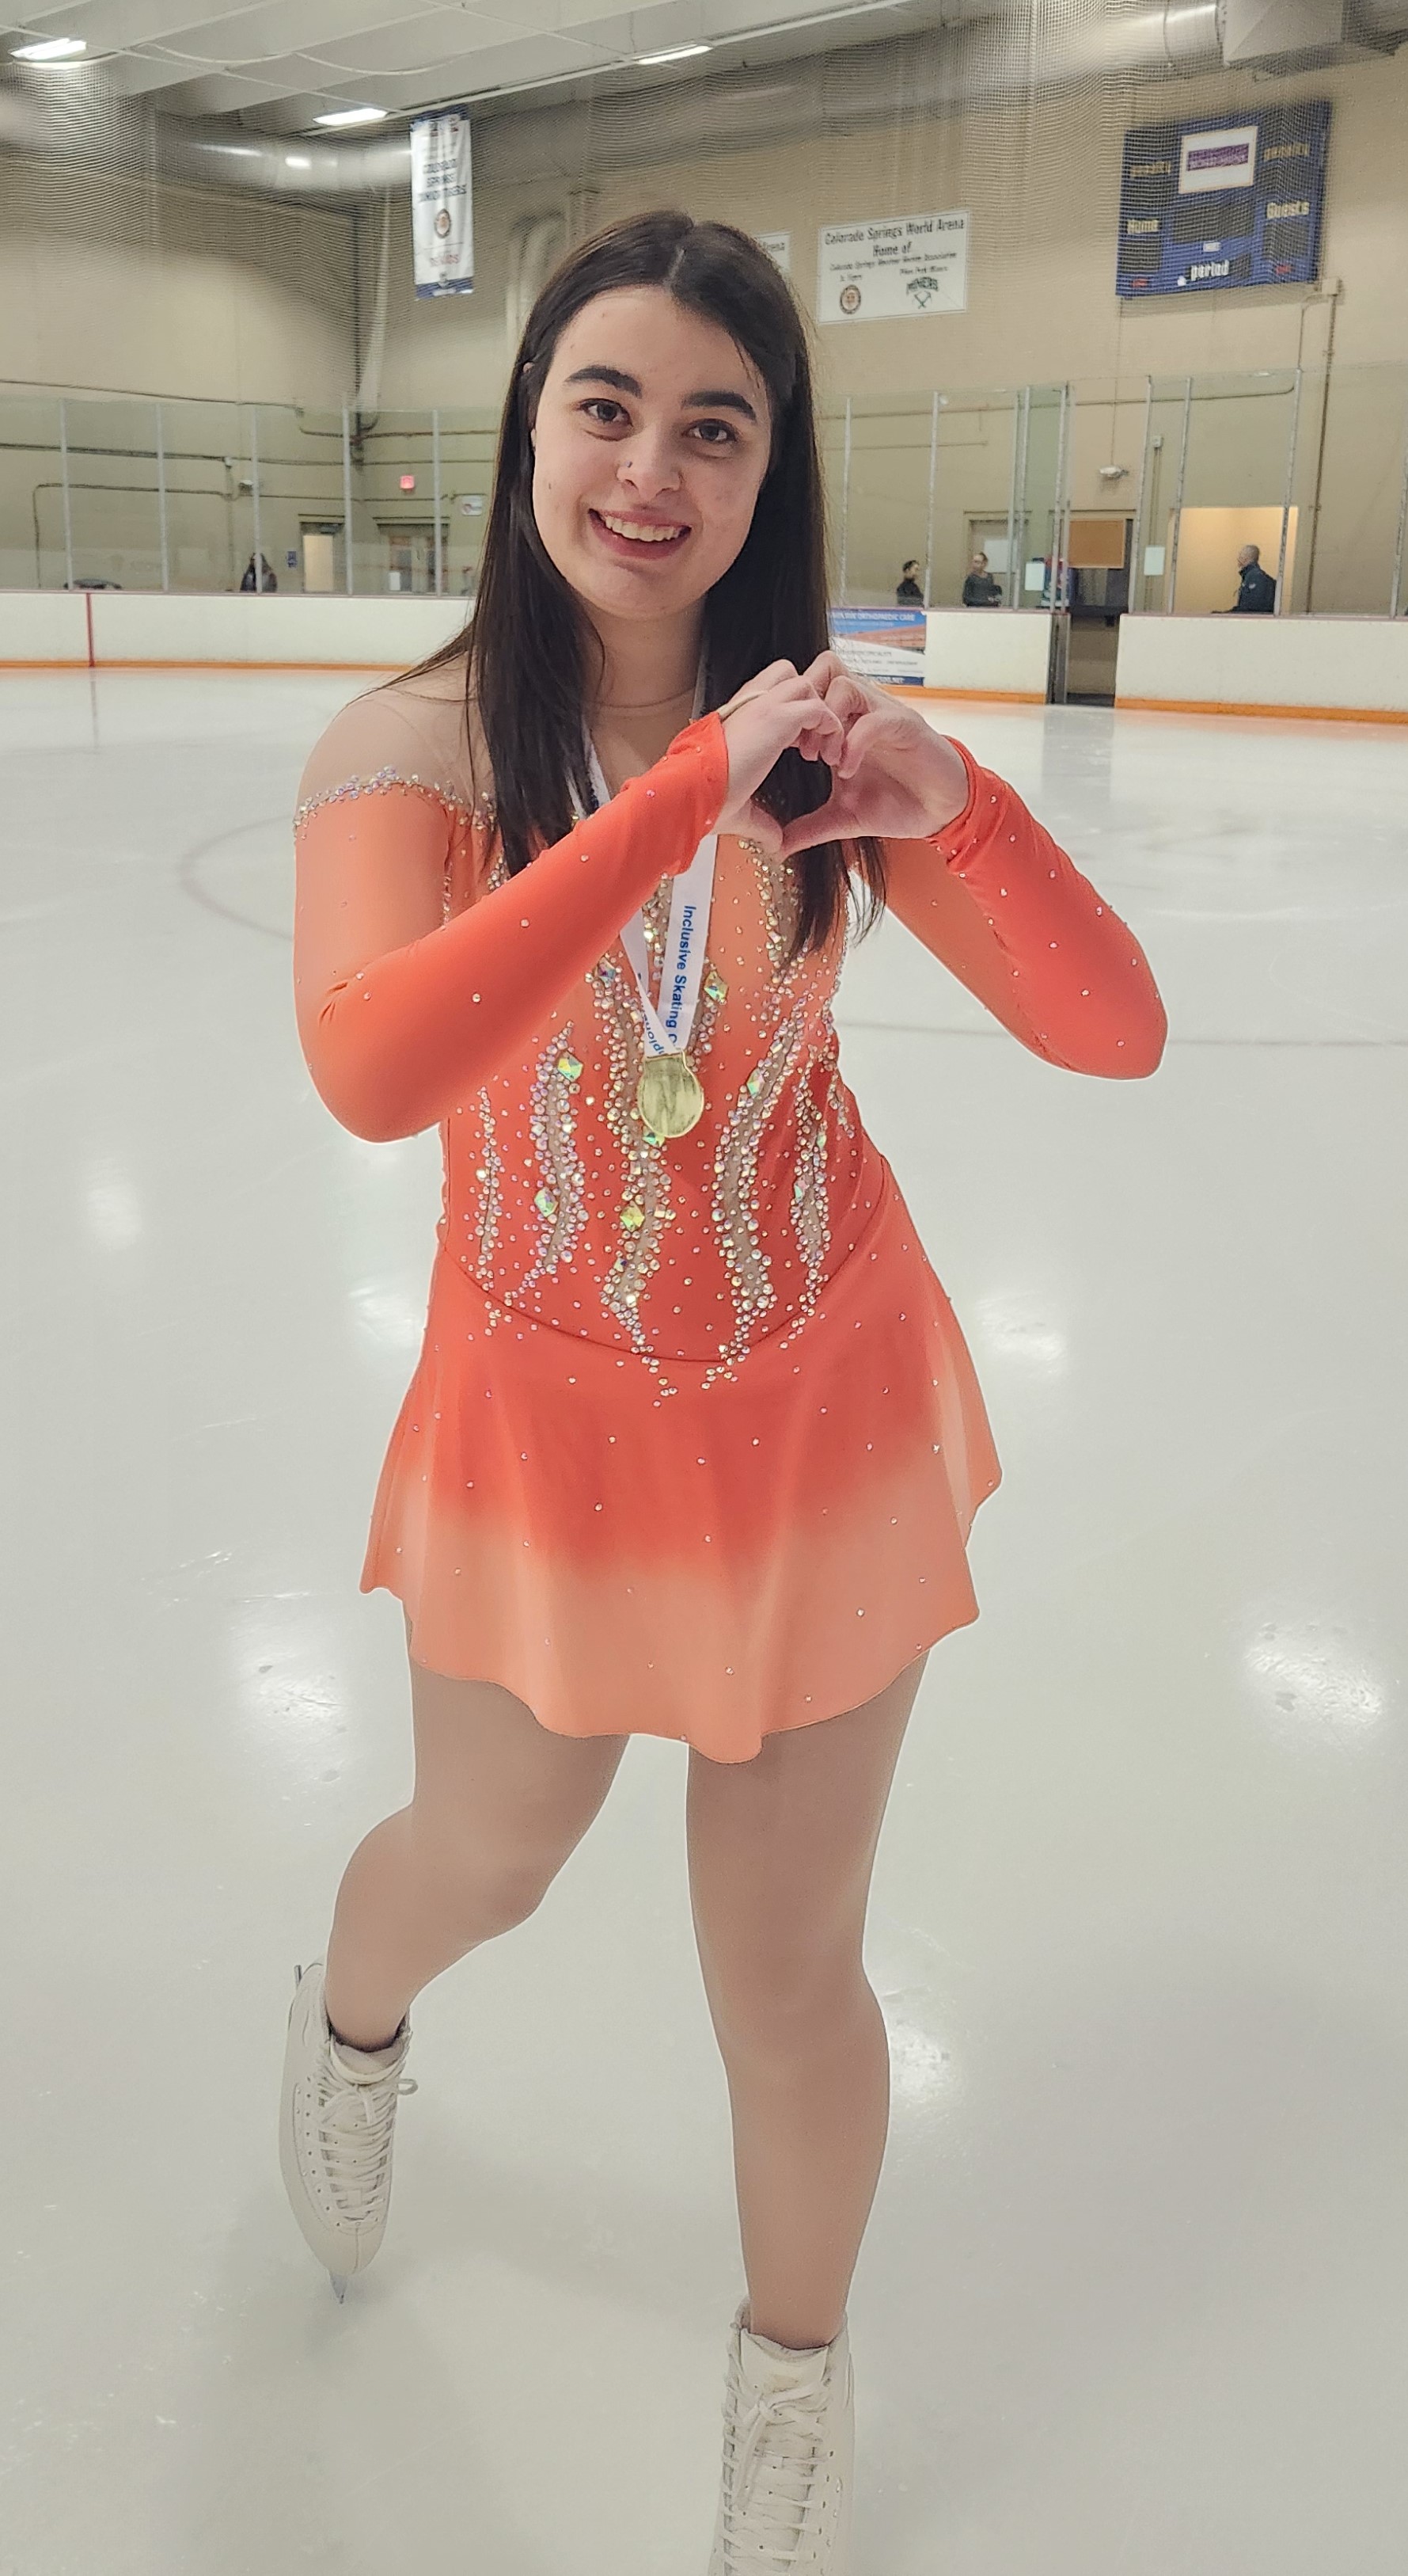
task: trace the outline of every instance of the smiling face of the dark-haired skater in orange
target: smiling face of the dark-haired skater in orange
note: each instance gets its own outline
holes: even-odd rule
[[[767,389],[664,286],[618,286],[564,327],[533,422],[538,536],[587,611],[667,618],[728,572],[767,474]]]

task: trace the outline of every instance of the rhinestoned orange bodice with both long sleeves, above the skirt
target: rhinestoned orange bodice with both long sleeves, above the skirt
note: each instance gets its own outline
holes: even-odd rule
[[[885,902],[1032,1054],[1151,1072],[1148,961],[1001,778],[932,840],[885,842]],[[852,1257],[885,1167],[837,1064],[842,938],[793,956],[795,873],[721,835],[690,1061],[700,1123],[636,1110],[641,999],[620,927],[659,956],[669,881],[726,801],[718,716],[507,876],[463,670],[345,708],[304,773],[293,976],[306,1061],[363,1136],[438,1123],[440,1244],[494,1329],[553,1327],[672,1388],[785,1347]],[[515,1321],[517,1319],[517,1321]],[[903,1321],[903,1319],[901,1319]]]

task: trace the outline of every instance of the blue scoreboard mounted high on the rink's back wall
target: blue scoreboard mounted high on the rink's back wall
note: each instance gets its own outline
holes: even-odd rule
[[[1138,126],[1120,170],[1115,291],[1310,286],[1320,265],[1328,98],[1236,124]]]

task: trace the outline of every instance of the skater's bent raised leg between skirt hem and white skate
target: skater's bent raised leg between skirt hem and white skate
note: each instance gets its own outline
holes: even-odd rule
[[[582,1842],[625,1736],[553,1736],[497,1682],[412,1664],[414,1795],[353,1852],[327,1947],[327,2017],[381,2048],[412,1996],[520,1924]]]

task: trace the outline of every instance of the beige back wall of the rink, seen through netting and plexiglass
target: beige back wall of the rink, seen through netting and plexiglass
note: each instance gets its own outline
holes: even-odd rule
[[[263,559],[281,587],[471,587],[535,283],[597,222],[685,204],[770,240],[816,317],[839,600],[891,603],[914,559],[919,592],[958,603],[986,556],[978,580],[1009,603],[1230,605],[1251,531],[1287,608],[1400,605],[1387,237],[1408,54],[1228,70],[1228,18],[1197,0],[857,41],[878,23],[811,31],[811,52],[772,36],[628,95],[484,106],[476,291],[435,304],[412,291],[404,175],[304,204],[260,193],[270,157],[299,185],[301,139],[270,142],[257,111],[190,124],[100,70],[0,90],[0,585],[234,587]],[[1318,100],[1318,273],[1344,296],[1305,278],[1117,294],[1135,276],[1127,134]],[[1261,209],[1269,245],[1305,232],[1290,180]],[[1171,222],[1189,260],[1197,204]],[[1205,204],[1236,216],[1225,188]],[[891,309],[862,237],[922,216],[950,227]],[[855,229],[849,270],[826,229]]]

